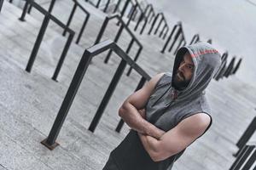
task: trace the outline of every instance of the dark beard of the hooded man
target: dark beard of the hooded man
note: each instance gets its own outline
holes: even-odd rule
[[[187,88],[190,80],[187,80],[181,71],[177,71],[173,79],[173,87],[177,90],[183,90]]]

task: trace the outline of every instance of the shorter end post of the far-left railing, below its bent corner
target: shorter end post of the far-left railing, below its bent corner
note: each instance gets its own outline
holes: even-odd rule
[[[67,51],[68,51],[68,49],[70,47],[70,44],[71,44],[71,42],[73,40],[73,36],[74,36],[74,32],[70,33],[68,38],[67,38],[67,42],[66,42],[65,47],[64,47],[64,49],[63,49],[63,51],[61,53],[61,58],[58,61],[58,64],[57,64],[55,72],[54,72],[54,75],[52,77],[52,79],[54,81],[57,81],[57,77],[59,75],[59,72],[61,71],[62,64],[64,62],[64,59],[66,58]]]

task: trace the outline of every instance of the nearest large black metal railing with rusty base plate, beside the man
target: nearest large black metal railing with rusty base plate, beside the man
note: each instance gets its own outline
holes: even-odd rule
[[[91,132],[95,131],[96,126],[97,126],[98,122],[100,121],[105,108],[108,105],[108,101],[111,98],[113,91],[115,90],[115,88],[120,80],[120,77],[122,76],[122,74],[125,70],[126,65],[130,65],[135,71],[137,71],[137,73],[140,76],[142,76],[140,84],[143,84],[143,82],[150,80],[151,77],[149,77],[148,74],[145,71],[143,71],[143,69],[139,65],[137,65],[137,63],[135,63],[128,56],[128,54],[125,54],[125,52],[121,48],[119,48],[119,46],[113,41],[108,40],[105,42],[100,42],[91,48],[85,49],[84,54],[79,62],[78,68],[75,71],[75,74],[73,76],[73,80],[70,83],[70,86],[67,90],[67,94],[62,101],[61,109],[59,110],[58,115],[55,118],[53,127],[51,128],[51,130],[49,132],[49,136],[41,142],[47,148],[49,148],[49,150],[53,150],[55,148],[55,146],[58,145],[55,142],[55,140],[61,131],[62,124],[67,117],[67,113],[73,103],[73,99],[75,98],[75,96],[79,90],[80,83],[82,82],[82,80],[84,78],[84,74],[90,65],[91,59],[94,56],[96,56],[97,54],[102,54],[104,51],[106,51],[108,49],[112,49],[113,52],[121,58],[121,62],[119,64],[117,70],[114,73],[112,81],[110,82],[110,84],[108,86],[108,90],[107,90],[106,94],[104,94],[101,104],[97,108],[96,115],[94,116],[92,122],[90,123],[89,130]]]

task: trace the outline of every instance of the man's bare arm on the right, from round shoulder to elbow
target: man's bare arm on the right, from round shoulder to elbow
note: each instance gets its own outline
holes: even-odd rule
[[[206,131],[210,122],[210,116],[198,113],[178,123],[176,127],[164,133],[160,139],[142,133],[139,133],[139,137],[152,160],[163,161],[189,146]]]

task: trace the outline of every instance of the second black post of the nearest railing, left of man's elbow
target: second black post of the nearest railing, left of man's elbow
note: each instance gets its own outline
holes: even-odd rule
[[[94,132],[96,129],[97,124],[99,123],[103,112],[105,111],[106,106],[108,105],[108,101],[111,98],[114,89],[116,88],[119,79],[121,78],[123,72],[125,71],[126,61],[124,59],[121,60],[118,69],[115,71],[112,81],[108,86],[108,90],[104,95],[101,105],[98,107],[96,111],[96,115],[93,117],[92,122],[90,122],[89,130],[90,132]]]

